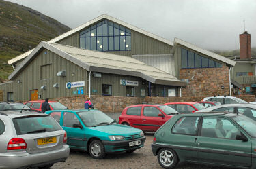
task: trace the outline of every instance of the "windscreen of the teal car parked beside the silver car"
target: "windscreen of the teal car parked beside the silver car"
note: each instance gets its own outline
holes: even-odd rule
[[[115,122],[111,117],[101,111],[81,111],[77,113],[85,126],[108,125]]]

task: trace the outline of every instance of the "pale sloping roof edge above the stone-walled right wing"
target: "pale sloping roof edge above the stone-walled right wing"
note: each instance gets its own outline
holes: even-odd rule
[[[219,54],[215,54],[214,52],[210,52],[209,50],[203,50],[202,48],[199,48],[191,43],[188,43],[186,41],[182,41],[181,39],[177,39],[175,37],[174,42],[173,42],[173,53],[175,52],[175,49],[177,45],[184,45],[187,48],[190,48],[191,50],[195,50],[197,52],[200,52],[201,54],[205,54],[206,56],[210,56],[211,58],[214,58],[216,60],[220,60],[221,62],[225,62],[231,66],[235,66],[236,62],[229,59],[225,58],[224,56],[221,56]]]

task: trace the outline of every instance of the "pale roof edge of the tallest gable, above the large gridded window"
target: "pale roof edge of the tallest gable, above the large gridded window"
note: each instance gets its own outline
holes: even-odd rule
[[[153,33],[150,33],[150,32],[147,32],[147,31],[144,31],[143,29],[139,29],[137,28],[136,26],[132,26],[131,24],[128,24],[122,20],[118,20],[116,18],[113,18],[112,16],[109,16],[109,15],[106,15],[106,14],[102,14],[101,16],[98,16],[97,18],[94,18],[93,20],[90,20],[89,22],[85,23],[85,24],[82,24],[81,26],[75,28],[75,29],[72,29],[66,33],[63,33],[62,35],[59,35],[58,37],[55,37],[53,39],[51,39],[50,41],[48,41],[48,43],[56,43],[57,41],[60,41],[61,39],[64,39],[78,31],[81,31],[82,29],[85,29],[87,26],[90,26],[91,24],[94,24],[96,22],[99,22],[100,20],[103,20],[103,19],[107,19],[107,20],[110,20],[112,22],[115,22],[117,24],[120,24],[122,26],[125,26],[126,28],[128,29],[132,29],[133,31],[137,31],[139,33],[142,33],[143,35],[146,35],[148,37],[152,37],[158,41],[162,41],[163,43],[167,43],[168,45],[173,45],[173,42],[172,41],[169,41],[167,39],[164,39],[162,37],[159,37],[158,35],[154,35]],[[33,51],[34,49],[32,50],[29,50],[27,52],[25,52],[24,54],[20,54],[19,56],[16,56],[15,58],[12,58],[11,60],[8,60],[8,64],[13,64],[15,62],[18,62],[18,60],[21,60],[27,56],[29,56],[29,54],[31,54],[31,52]]]

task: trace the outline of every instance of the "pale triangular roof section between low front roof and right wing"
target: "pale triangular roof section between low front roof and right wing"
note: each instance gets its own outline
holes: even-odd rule
[[[138,54],[132,55],[132,58],[136,58],[141,62],[145,62],[145,64],[156,67],[157,69],[165,71],[173,76],[176,75],[173,54]]]

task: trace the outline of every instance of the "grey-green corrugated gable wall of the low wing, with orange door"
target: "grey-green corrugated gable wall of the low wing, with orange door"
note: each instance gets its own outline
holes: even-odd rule
[[[47,54],[44,54],[47,52]],[[52,70],[49,71],[51,79],[40,80],[40,66],[52,64]],[[57,77],[57,72],[66,70],[66,77]],[[75,73],[74,77],[71,73]],[[17,83],[20,80],[21,83]],[[7,92],[14,92],[14,100],[30,100],[30,90],[38,89],[38,95],[42,99],[75,96],[73,91],[76,88],[66,89],[66,83],[75,81],[85,81],[84,92],[87,94],[87,71],[76,64],[71,63],[54,54],[51,51],[43,50],[38,56],[31,61],[31,63],[14,79],[14,83],[10,83],[4,88],[4,99],[6,100]],[[53,84],[59,83],[59,88],[53,88]],[[46,86],[46,90],[40,90],[40,86]],[[3,88],[0,86],[0,89]]]

